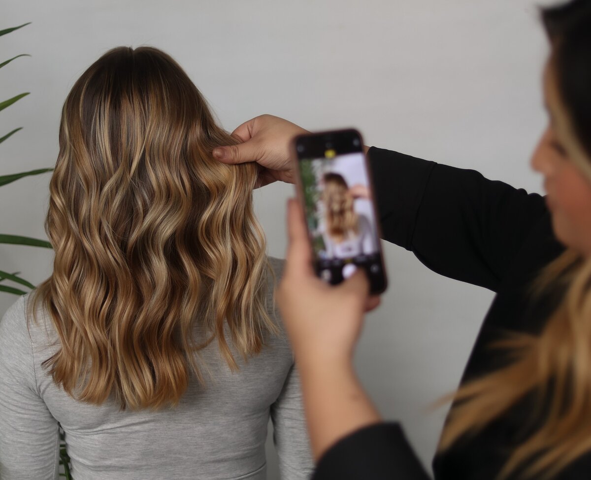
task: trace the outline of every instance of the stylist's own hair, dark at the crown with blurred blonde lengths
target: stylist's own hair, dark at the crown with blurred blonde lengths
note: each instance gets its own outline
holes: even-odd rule
[[[573,0],[542,16],[560,97],[587,156],[577,166],[591,181],[591,2]],[[553,478],[591,452],[591,258],[567,249],[541,271],[531,294],[540,300],[561,292],[539,335],[512,333],[492,345],[508,355],[508,365],[446,398],[454,406],[440,450],[469,439],[531,394],[537,404],[524,426],[537,427],[512,450],[499,478]]]

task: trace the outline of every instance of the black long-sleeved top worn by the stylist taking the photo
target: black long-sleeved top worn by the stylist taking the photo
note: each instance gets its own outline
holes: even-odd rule
[[[463,381],[502,365],[486,346],[502,331],[539,332],[558,298],[531,301],[527,289],[564,249],[554,237],[544,198],[501,181],[372,147],[369,163],[384,239],[412,251],[431,270],[495,291]],[[525,398],[475,436],[436,456],[437,480],[493,480],[512,448],[531,433]],[[589,479],[591,454],[557,479]],[[429,477],[397,423],[350,434],[320,459],[314,480]],[[512,477],[513,478],[513,477]]]

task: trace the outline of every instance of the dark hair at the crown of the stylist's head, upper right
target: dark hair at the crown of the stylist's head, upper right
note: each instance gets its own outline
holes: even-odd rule
[[[591,157],[591,1],[544,8],[542,20],[552,43],[558,92],[577,139]]]

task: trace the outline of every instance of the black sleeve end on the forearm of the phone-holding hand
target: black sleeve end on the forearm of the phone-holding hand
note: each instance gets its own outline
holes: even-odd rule
[[[428,480],[398,423],[364,427],[320,458],[312,480]]]

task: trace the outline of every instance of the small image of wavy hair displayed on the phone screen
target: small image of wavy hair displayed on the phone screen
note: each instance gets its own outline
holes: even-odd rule
[[[350,232],[359,233],[359,219],[353,208],[353,196],[349,193],[349,186],[342,175],[325,173],[323,181],[326,225],[330,236],[340,244]]]

